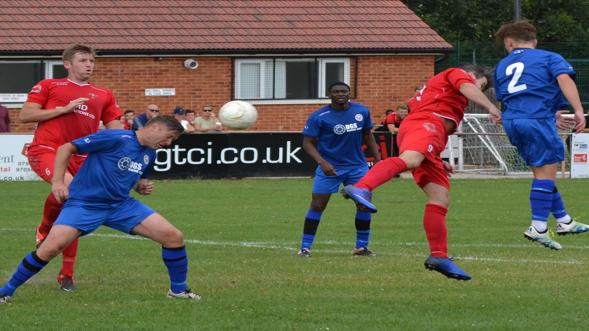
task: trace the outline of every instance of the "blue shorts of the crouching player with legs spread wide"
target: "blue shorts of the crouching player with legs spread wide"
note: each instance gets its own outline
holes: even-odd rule
[[[124,233],[141,223],[155,211],[134,198],[128,197],[115,204],[88,203],[80,200],[67,200],[54,225],[67,225],[82,230],[85,236],[101,225]]]

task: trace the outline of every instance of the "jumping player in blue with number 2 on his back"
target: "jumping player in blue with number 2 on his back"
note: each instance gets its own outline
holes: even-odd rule
[[[589,226],[568,216],[555,186],[557,163],[565,155],[557,127],[570,128],[566,124],[576,123],[577,133],[585,127],[575,71],[561,55],[535,49],[536,29],[528,21],[502,25],[495,37],[509,52],[493,77],[497,100],[504,102],[501,117],[505,133],[534,173],[532,224],[524,237],[550,249],[561,249],[547,227],[550,213],[559,235],[589,231]],[[561,116],[567,101],[575,111],[574,122]]]

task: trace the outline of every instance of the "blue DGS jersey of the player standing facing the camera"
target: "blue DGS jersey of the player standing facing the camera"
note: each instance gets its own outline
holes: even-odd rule
[[[366,166],[362,151],[362,130],[371,130],[370,112],[365,105],[349,102],[346,110],[335,110],[331,104],[313,112],[303,134],[319,138],[317,150],[335,168]]]

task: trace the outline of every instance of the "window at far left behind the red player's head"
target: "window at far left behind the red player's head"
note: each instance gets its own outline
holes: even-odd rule
[[[0,103],[19,103],[37,82],[47,78],[65,78],[68,71],[61,61],[0,60]]]

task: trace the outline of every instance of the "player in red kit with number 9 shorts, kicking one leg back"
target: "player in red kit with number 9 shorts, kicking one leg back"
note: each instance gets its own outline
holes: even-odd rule
[[[454,133],[464,117],[468,101],[487,108],[495,125],[501,122],[501,112],[482,93],[491,81],[491,71],[474,64],[459,65],[435,75],[408,102],[411,113],[403,120],[398,135],[399,157],[389,157],[375,164],[353,186],[342,193],[366,210],[376,213],[370,191],[391,180],[396,174],[411,170],[415,182],[428,196],[423,227],[428,237],[431,255],[425,267],[449,278],[469,280],[471,276],[455,266],[448,258],[446,213],[450,204],[448,177],[454,168],[442,161],[448,135]]]

